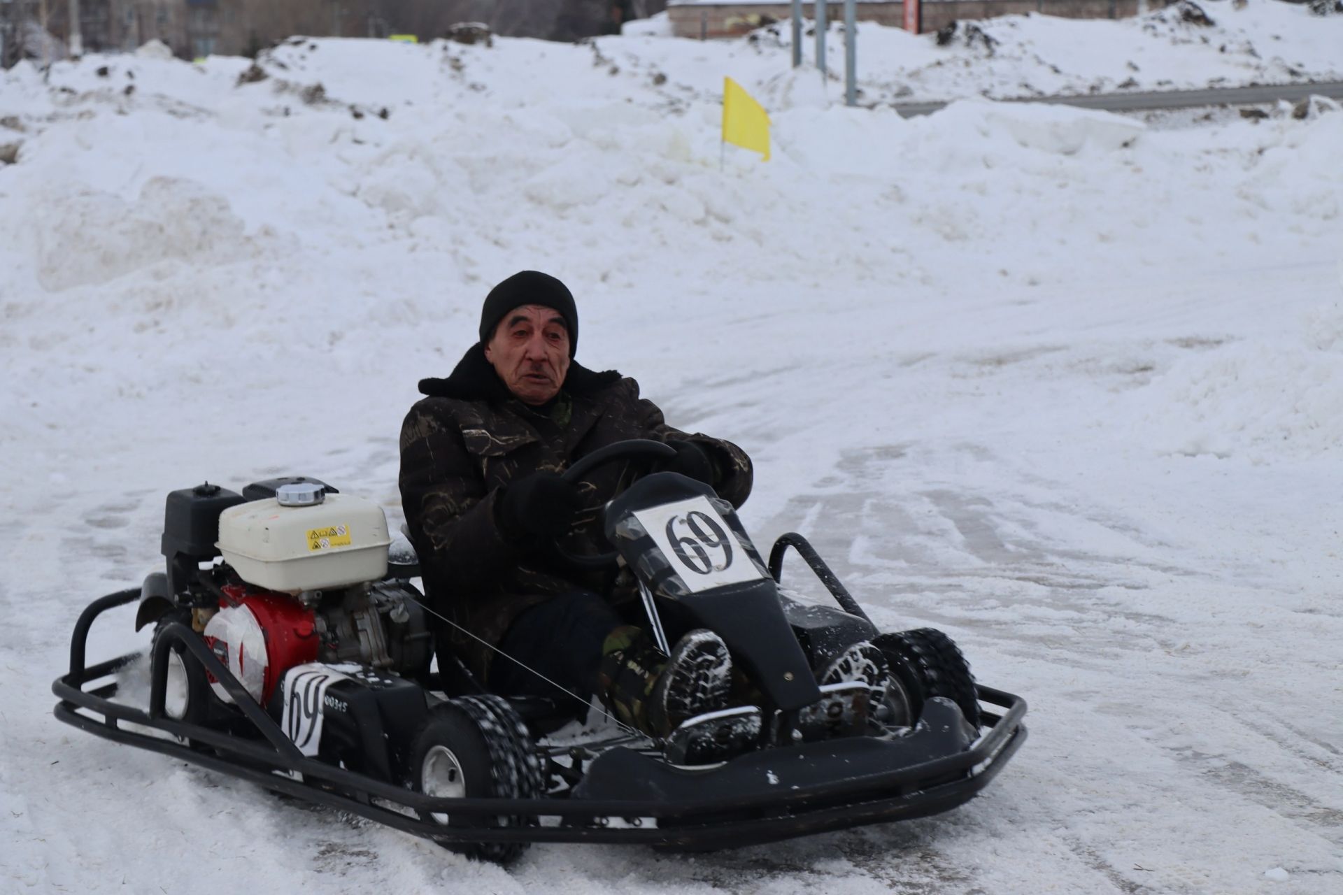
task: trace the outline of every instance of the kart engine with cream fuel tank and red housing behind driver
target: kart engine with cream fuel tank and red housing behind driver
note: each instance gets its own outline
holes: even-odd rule
[[[242,495],[208,483],[173,491],[168,573],[160,588],[146,581],[137,627],[189,597],[196,629],[263,704],[287,670],[310,662],[418,676],[432,636],[419,592],[384,580],[389,543],[380,506],[316,479],[259,482]],[[224,565],[200,568],[219,556]]]

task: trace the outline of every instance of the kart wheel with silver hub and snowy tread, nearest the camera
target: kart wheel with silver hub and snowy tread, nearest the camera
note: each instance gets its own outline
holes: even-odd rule
[[[461,696],[435,706],[411,747],[415,792],[446,798],[537,798],[541,762],[526,725],[500,696]],[[453,817],[430,813],[445,827],[532,827],[535,817]],[[439,843],[478,860],[506,864],[529,843]]]

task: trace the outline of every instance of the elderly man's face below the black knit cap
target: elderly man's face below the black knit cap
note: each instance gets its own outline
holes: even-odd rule
[[[569,330],[553,307],[514,307],[485,345],[485,360],[520,401],[545,404],[569,372]]]

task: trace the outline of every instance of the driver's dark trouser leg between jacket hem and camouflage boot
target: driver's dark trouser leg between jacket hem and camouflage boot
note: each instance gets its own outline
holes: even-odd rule
[[[502,655],[490,666],[490,690],[548,696],[577,714],[598,692],[602,647],[622,624],[606,600],[588,590],[549,597],[509,625],[500,641]]]

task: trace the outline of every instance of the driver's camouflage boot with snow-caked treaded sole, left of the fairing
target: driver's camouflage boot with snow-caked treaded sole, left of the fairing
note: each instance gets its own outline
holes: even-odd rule
[[[686,718],[727,706],[732,657],[713,632],[692,631],[667,656],[638,628],[618,628],[603,653],[603,702],[646,734],[665,738]]]

